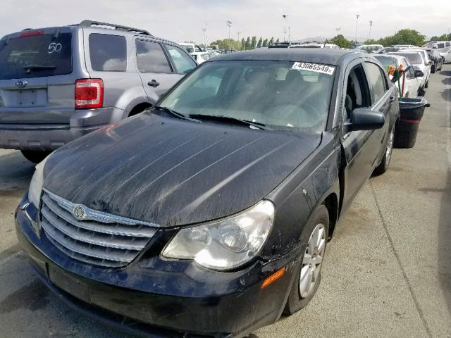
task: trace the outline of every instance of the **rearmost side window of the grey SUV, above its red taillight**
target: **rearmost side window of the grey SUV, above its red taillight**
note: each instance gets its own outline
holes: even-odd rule
[[[127,42],[120,35],[89,35],[91,68],[101,72],[125,72],[127,68]]]

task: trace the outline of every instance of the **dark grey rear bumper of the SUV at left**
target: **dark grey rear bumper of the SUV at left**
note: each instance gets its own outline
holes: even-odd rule
[[[0,148],[52,151],[78,137],[124,118],[118,108],[80,110],[67,124],[0,123]]]

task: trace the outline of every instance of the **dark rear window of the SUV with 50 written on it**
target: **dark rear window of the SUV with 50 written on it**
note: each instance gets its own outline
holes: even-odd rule
[[[0,79],[72,73],[72,34],[16,37],[0,41]]]

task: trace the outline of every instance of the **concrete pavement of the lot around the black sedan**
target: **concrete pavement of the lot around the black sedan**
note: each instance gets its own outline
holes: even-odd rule
[[[314,299],[253,338],[451,337],[451,65],[426,99],[416,146],[394,149],[338,225]],[[0,337],[130,338],[62,303],[20,253],[13,213],[33,171],[0,149]]]

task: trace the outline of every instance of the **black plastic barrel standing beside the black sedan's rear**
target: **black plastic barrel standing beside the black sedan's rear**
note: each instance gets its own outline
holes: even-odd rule
[[[402,98],[400,100],[400,120],[395,125],[393,146],[412,148],[423,118],[424,108],[431,106],[425,99]]]

